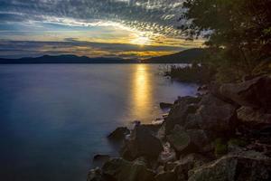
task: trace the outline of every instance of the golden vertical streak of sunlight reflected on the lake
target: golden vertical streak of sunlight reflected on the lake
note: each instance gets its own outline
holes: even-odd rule
[[[133,115],[135,115],[135,119],[140,118],[139,115],[146,115],[150,113],[149,103],[152,99],[151,79],[150,73],[148,72],[148,66],[145,64],[137,64],[133,76],[133,91],[131,95],[134,108]]]

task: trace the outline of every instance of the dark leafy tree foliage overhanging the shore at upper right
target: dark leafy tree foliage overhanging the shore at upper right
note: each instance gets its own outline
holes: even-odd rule
[[[258,65],[271,57],[270,0],[186,0],[183,6],[187,23],[180,28],[192,39],[208,38],[218,81],[262,73]]]

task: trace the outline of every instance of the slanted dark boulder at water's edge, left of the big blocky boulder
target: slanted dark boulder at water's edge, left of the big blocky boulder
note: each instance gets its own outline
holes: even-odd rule
[[[170,110],[168,117],[165,119],[165,131],[169,133],[176,124],[184,125],[188,114],[195,113],[198,109],[197,103],[200,98],[182,97],[175,101],[172,110]]]

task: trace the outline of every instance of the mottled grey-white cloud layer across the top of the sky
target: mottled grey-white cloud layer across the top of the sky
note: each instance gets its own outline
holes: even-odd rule
[[[0,13],[0,23],[116,25],[175,37],[182,0],[0,0]]]

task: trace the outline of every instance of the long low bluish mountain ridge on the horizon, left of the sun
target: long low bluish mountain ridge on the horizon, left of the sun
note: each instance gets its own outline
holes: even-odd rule
[[[23,64],[23,63],[135,63],[137,60],[125,60],[121,58],[89,58],[86,56],[77,56],[73,54],[65,55],[44,55],[41,57],[26,57],[21,59],[2,59],[0,58],[0,64]]]

